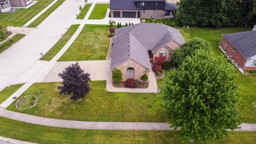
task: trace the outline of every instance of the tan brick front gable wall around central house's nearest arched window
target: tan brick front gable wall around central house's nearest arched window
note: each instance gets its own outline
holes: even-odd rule
[[[135,62],[134,60],[127,60],[126,62],[122,63],[121,65],[117,66],[117,69],[120,69],[122,72],[123,81],[126,81],[126,70],[127,68],[134,69],[134,79],[140,80],[140,77],[143,74],[148,75],[148,70],[145,67],[141,66],[139,63]]]

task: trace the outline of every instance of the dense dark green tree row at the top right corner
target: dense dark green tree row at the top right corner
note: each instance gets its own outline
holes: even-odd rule
[[[181,0],[178,3],[181,25],[242,26],[256,22],[254,0]]]

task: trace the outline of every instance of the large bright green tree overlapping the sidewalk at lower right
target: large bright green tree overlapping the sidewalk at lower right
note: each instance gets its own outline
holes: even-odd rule
[[[233,70],[225,59],[199,49],[167,75],[164,107],[183,141],[218,140],[237,129],[241,113]]]

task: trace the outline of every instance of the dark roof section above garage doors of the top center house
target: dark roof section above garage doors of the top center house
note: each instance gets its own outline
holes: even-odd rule
[[[110,0],[111,10],[141,10],[137,8],[134,0]]]

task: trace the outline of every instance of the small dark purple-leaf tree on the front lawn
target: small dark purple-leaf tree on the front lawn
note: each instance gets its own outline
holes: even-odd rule
[[[82,99],[91,90],[88,84],[91,81],[90,74],[85,74],[78,62],[65,68],[59,77],[63,79],[62,86],[58,86],[60,94],[73,94],[71,100]]]

